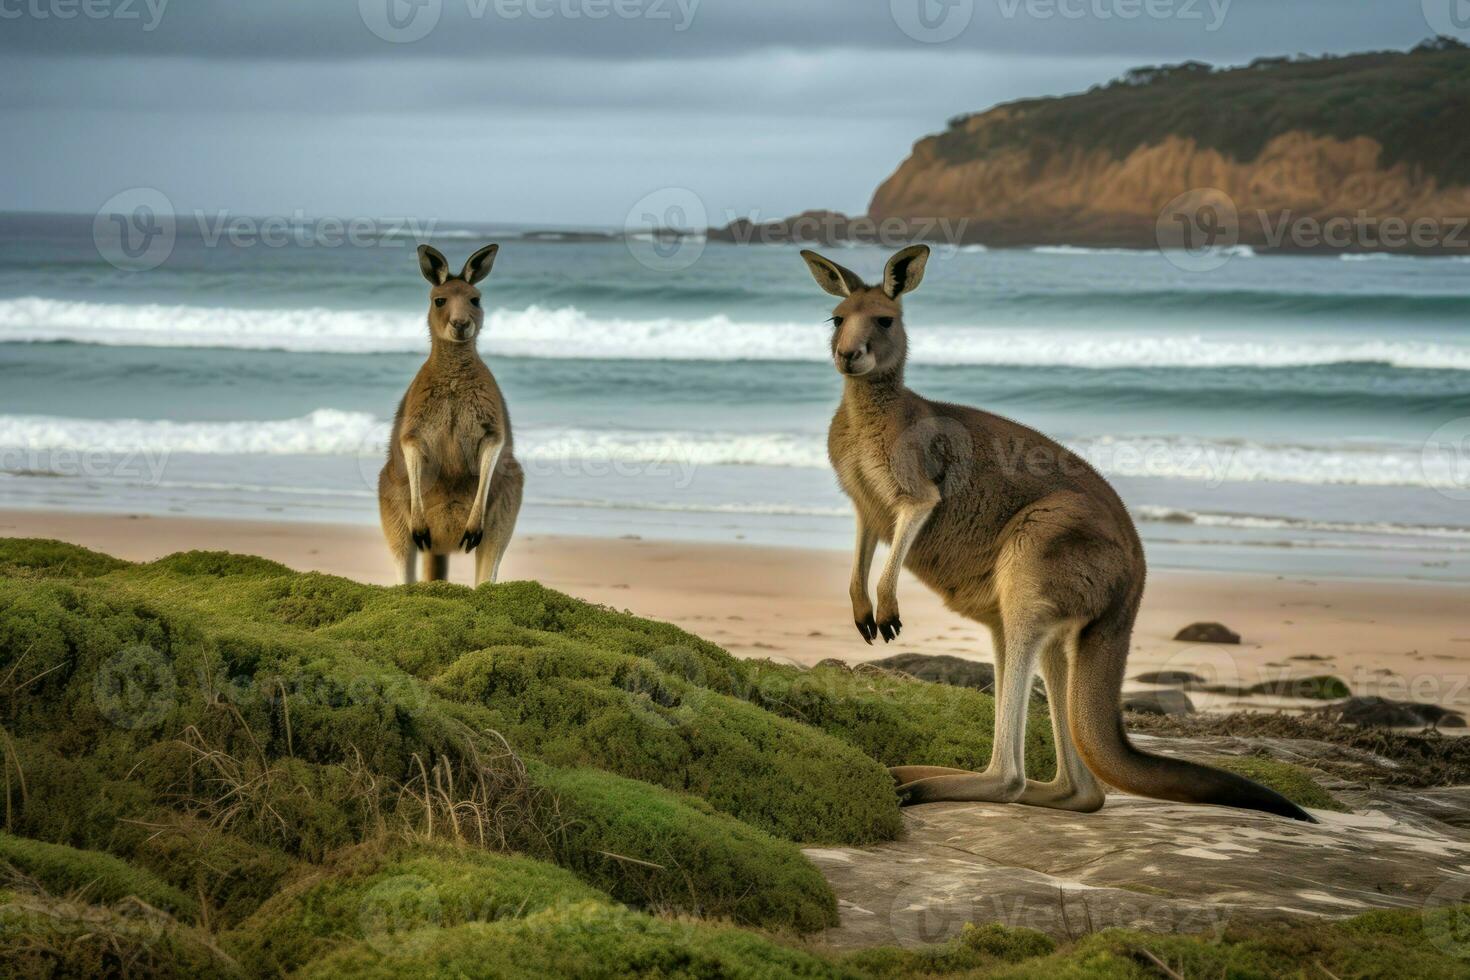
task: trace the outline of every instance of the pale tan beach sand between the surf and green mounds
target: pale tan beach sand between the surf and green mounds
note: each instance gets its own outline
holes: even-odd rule
[[[381,533],[370,526],[0,511],[0,535],[59,538],[135,561],[196,548],[235,551],[303,572],[395,580]],[[848,561],[841,551],[528,535],[512,542],[501,579],[535,579],[589,602],[669,620],[742,657],[804,666],[897,652],[991,660],[989,633],[945,610],[907,574],[898,591],[903,636],[886,646],[866,645],[851,621]],[[469,583],[472,561],[450,564],[450,577]],[[1464,588],[1452,585],[1155,572],[1125,689],[1142,688],[1132,677],[1160,669],[1235,686],[1330,673],[1354,693],[1470,710],[1464,608]],[[1225,623],[1242,644],[1172,639],[1197,620]],[[1310,704],[1191,696],[1205,710]]]

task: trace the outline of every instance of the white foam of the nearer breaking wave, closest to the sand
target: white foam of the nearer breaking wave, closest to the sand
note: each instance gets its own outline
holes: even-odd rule
[[[0,416],[0,469],[46,469],[47,453],[198,453],[223,455],[378,455],[388,423],[368,413],[319,408],[300,419],[173,422]],[[1466,475],[1417,445],[1280,445],[1189,436],[1094,436],[1069,445],[1110,476],[1239,482],[1451,486]],[[688,432],[528,428],[516,453],[532,461],[607,460],[700,466],[822,469],[826,441],[801,432]],[[1025,466],[1026,461],[1017,461]],[[1444,470],[1444,472],[1441,472]]]

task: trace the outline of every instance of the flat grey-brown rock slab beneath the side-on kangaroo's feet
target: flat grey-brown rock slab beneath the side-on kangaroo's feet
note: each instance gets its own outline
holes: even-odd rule
[[[1320,824],[1123,795],[1095,814],[929,804],[904,811],[900,840],[806,854],[836,892],[823,939],[839,948],[935,943],[966,923],[1198,933],[1470,893],[1470,832],[1444,820],[1470,789],[1339,796],[1360,811],[1314,811]]]

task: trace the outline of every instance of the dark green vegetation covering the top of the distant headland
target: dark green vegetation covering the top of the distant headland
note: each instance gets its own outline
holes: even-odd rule
[[[982,115],[982,113],[976,113]],[[1380,165],[1407,163],[1441,185],[1470,185],[1470,48],[1435,38],[1408,53],[1263,57],[1247,68],[1200,62],[1136,68],[1079,96],[1026,98],[989,125],[957,116],[936,135],[951,163],[1022,148],[1035,170],[1054,154],[1104,150],[1122,160],[1170,137],[1248,163],[1276,137],[1307,132],[1383,148]]]

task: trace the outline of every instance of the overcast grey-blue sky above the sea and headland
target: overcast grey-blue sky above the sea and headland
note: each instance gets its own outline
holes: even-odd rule
[[[951,116],[1408,48],[1455,0],[0,0],[0,210],[860,215]]]

